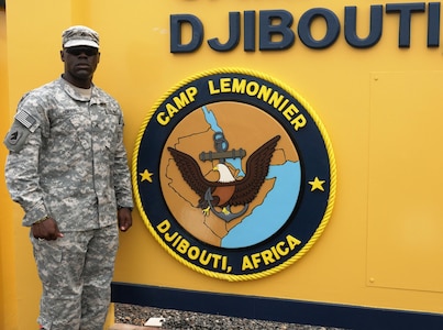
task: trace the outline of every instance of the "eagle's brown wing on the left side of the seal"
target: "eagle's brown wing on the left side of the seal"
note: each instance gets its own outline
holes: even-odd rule
[[[184,180],[193,191],[197,193],[198,196],[202,197],[209,187],[214,186],[214,183],[204,178],[201,174],[200,166],[190,155],[170,146],[168,146],[168,151],[173,155]]]

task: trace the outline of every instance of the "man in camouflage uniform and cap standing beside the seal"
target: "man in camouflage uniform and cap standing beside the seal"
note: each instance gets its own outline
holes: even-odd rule
[[[63,33],[60,78],[24,95],[4,140],[8,189],[24,209],[43,284],[45,330],[101,330],[119,228],[132,226],[119,103],[92,84],[99,36]],[[118,222],[118,226],[117,226]],[[119,228],[118,228],[119,227]]]

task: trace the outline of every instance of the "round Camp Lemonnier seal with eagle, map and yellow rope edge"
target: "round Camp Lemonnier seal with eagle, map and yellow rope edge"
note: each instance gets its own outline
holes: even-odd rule
[[[203,72],[167,91],[142,124],[132,173],[155,240],[226,280],[262,278],[303,256],[335,199],[318,116],[288,86],[241,68]]]

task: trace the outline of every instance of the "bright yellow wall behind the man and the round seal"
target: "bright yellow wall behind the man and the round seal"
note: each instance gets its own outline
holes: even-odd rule
[[[356,3],[362,35],[367,31],[370,4],[378,2]],[[24,91],[62,73],[60,32],[71,24],[89,24],[100,32],[102,55],[95,80],[123,107],[130,155],[146,112],[180,80],[228,66],[266,73],[309,101],[333,143],[336,200],[322,237],[307,255],[276,275],[228,283],[196,273],[169,256],[135,211],[133,228],[121,237],[115,280],[441,314],[442,51],[427,47],[424,13],[412,18],[409,48],[398,47],[395,14],[384,14],[383,37],[376,46],[352,48],[343,37],[344,6],[350,2],[9,1],[7,24],[4,14],[0,15],[1,26],[8,28],[7,37],[4,29],[0,32],[0,105],[8,109],[1,112],[1,132],[4,136],[5,123]],[[245,53],[241,41],[232,52],[217,53],[206,44],[211,37],[228,37],[231,11],[285,9],[297,24],[314,7],[329,8],[341,20],[339,40],[326,50],[310,50],[299,38],[284,52]],[[169,53],[169,15],[174,13],[191,13],[203,22],[204,41],[197,52]],[[1,160],[4,155],[1,148]],[[32,329],[29,324],[37,314],[40,284],[27,232],[20,228],[21,211],[12,208],[1,182],[5,219],[14,222],[0,231],[0,319],[12,324],[8,329]],[[15,285],[7,287],[4,280],[13,277],[10,274],[15,274]],[[4,317],[5,300],[14,295],[18,305],[8,306],[11,315]],[[16,326],[19,322],[26,327]]]

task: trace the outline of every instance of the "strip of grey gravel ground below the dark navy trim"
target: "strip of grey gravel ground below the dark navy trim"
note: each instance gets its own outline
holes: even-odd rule
[[[165,318],[162,329],[211,329],[211,330],[343,330],[318,326],[280,323],[244,318],[224,317],[174,309],[160,309],[126,304],[115,304],[115,323],[143,326],[149,318]]]

